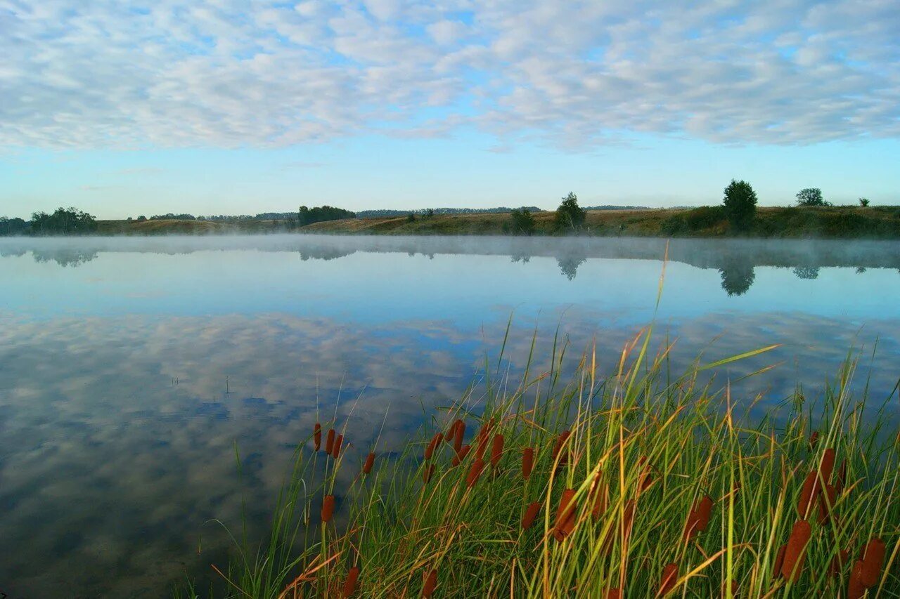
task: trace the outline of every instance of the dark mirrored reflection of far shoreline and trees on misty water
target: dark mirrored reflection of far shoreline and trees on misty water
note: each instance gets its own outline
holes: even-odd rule
[[[559,271],[569,281],[591,258],[662,259],[714,268],[729,296],[750,290],[754,268],[780,266],[792,269],[798,279],[815,280],[823,267],[851,267],[864,273],[867,268],[896,268],[900,273],[900,243],[893,241],[832,240],[719,240],[636,238],[519,238],[519,237],[148,237],[0,239],[0,256],[21,256],[31,252],[37,262],[53,261],[61,266],[79,266],[101,252],[141,252],[167,255],[198,251],[250,249],[260,252],[296,252],[303,261],[337,260],[357,252],[426,255],[509,255],[513,263],[528,264],[535,256],[554,257]]]

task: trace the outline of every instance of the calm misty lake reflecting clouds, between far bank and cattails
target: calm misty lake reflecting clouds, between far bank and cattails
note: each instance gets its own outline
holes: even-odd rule
[[[351,460],[390,451],[533,338],[539,367],[557,335],[604,372],[652,322],[672,371],[780,344],[716,371],[753,413],[814,404],[849,357],[896,417],[898,298],[896,242],[0,238],[0,592],[208,578],[210,520],[243,498],[260,530],[317,409]]]

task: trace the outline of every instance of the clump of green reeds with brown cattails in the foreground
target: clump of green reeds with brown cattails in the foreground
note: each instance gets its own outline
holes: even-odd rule
[[[863,420],[852,362],[823,403],[798,392],[759,418],[707,374],[765,350],[675,376],[650,347],[644,331],[608,379],[591,352],[563,376],[556,346],[515,381],[486,365],[484,394],[399,455],[330,443],[346,429],[322,422],[271,538],[213,565],[223,594],[900,594],[896,430],[884,407]]]

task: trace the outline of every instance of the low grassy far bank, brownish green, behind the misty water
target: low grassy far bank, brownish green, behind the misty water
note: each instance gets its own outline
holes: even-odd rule
[[[536,212],[536,235],[558,235],[554,213]],[[355,235],[505,235],[509,214],[436,214],[345,219],[292,228],[284,220],[100,220],[99,235],[331,233]],[[679,210],[589,210],[585,235],[623,237],[732,237],[718,207]],[[900,207],[761,208],[742,237],[900,238]]]

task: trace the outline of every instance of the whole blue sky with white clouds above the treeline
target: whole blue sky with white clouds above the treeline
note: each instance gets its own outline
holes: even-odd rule
[[[896,0],[0,0],[0,215],[898,204]]]

